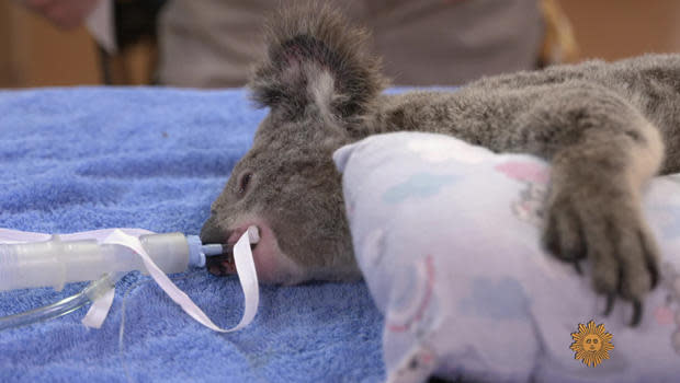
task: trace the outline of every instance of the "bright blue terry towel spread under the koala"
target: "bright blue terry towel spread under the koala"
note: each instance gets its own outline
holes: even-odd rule
[[[0,228],[68,233],[127,227],[195,234],[264,115],[241,90],[0,92]],[[235,277],[192,269],[172,278],[218,325],[240,318]],[[86,309],[80,309],[1,332],[0,381],[385,378],[383,318],[363,282],[262,287],[253,323],[217,334],[149,280],[134,272],[118,283],[101,329],[83,327]],[[83,286],[0,292],[0,315],[54,302]]]

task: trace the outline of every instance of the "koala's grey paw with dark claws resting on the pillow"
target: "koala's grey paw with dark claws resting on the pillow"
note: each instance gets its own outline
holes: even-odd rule
[[[591,264],[592,283],[607,297],[633,303],[631,325],[642,318],[643,300],[658,282],[659,254],[637,198],[622,190],[553,190],[543,233],[545,247],[560,259]]]

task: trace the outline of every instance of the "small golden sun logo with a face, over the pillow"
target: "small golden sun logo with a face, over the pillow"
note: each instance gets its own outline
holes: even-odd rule
[[[604,324],[596,326],[593,321],[588,325],[578,324],[578,333],[571,333],[574,343],[569,348],[576,351],[574,359],[580,359],[583,364],[596,367],[603,359],[609,359],[609,350],[614,349],[612,335],[607,333]]]

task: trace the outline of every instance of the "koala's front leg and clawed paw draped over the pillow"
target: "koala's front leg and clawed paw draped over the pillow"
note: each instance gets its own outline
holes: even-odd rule
[[[662,162],[660,135],[634,106],[591,85],[543,98],[518,137],[552,161],[543,241],[562,259],[587,257],[594,289],[633,303],[632,325],[658,279],[659,254],[642,212],[642,188]],[[580,269],[579,269],[580,270]]]

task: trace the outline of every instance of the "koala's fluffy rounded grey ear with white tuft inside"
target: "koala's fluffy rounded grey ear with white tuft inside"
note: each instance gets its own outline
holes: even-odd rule
[[[284,118],[359,116],[386,84],[379,59],[366,49],[367,33],[328,5],[303,1],[283,9],[270,18],[265,36],[267,56],[249,88]]]

